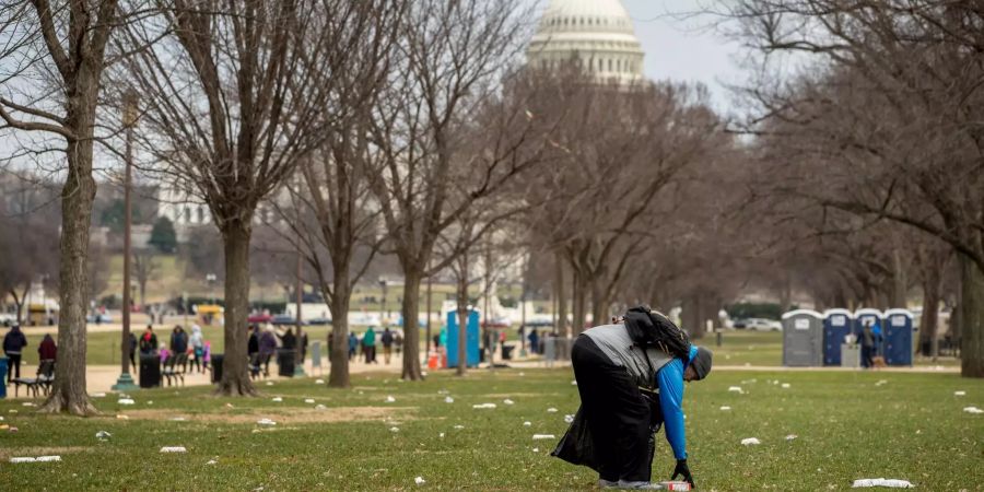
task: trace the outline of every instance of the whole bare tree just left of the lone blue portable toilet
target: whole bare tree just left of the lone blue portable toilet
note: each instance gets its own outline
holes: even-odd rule
[[[401,63],[374,120],[373,144],[383,168],[372,190],[403,271],[405,379],[421,378],[415,329],[421,281],[429,266],[436,271],[454,261],[431,262],[442,231],[476,200],[505,188],[536,164],[529,157],[535,153],[518,150],[534,126],[522,110],[499,119],[516,130],[490,132],[499,136],[499,145],[485,145],[479,154],[462,153],[458,145],[517,54],[527,27],[525,12],[517,0],[415,1],[401,32]],[[452,169],[458,166],[468,171],[469,180],[455,179],[461,173]]]

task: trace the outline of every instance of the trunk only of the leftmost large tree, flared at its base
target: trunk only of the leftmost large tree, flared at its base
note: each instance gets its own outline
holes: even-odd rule
[[[92,97],[90,104],[94,119],[94,93]],[[87,125],[80,122],[73,127],[83,129],[82,132],[89,137],[92,136],[91,122]],[[61,189],[58,377],[55,378],[51,395],[40,409],[48,413],[62,411],[75,415],[98,413],[85,391],[85,312],[90,298],[86,282],[89,227],[96,192],[95,179],[92,178],[92,144],[91,138],[68,142],[68,176]]]

